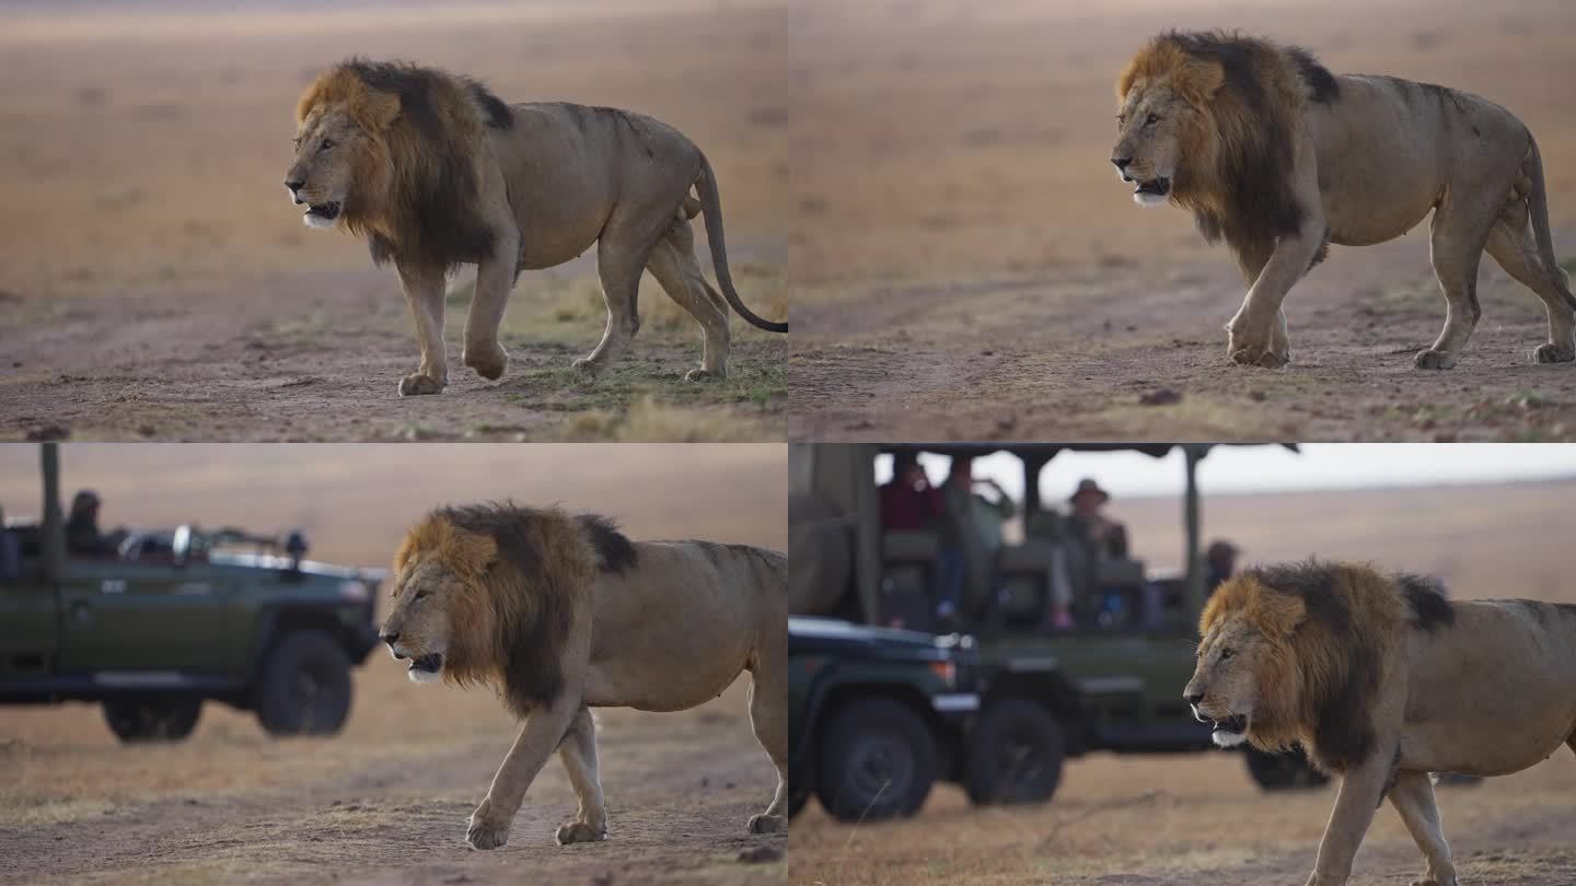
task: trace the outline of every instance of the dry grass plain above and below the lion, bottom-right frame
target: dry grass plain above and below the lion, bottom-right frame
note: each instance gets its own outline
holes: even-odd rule
[[[1576,482],[1365,492],[1225,495],[1204,501],[1207,538],[1247,561],[1310,553],[1429,572],[1459,597],[1576,602],[1562,553]],[[1135,555],[1174,568],[1182,539],[1173,498],[1113,503]],[[1288,530],[1288,527],[1295,527]],[[1053,801],[974,809],[938,787],[911,820],[838,825],[813,801],[793,821],[790,881],[802,886],[1294,886],[1313,869],[1335,788],[1262,793],[1236,754],[1092,754],[1070,761]],[[1576,881],[1576,755],[1475,787],[1440,787],[1440,813],[1463,883]],[[1357,886],[1422,872],[1385,806],[1357,856]]]

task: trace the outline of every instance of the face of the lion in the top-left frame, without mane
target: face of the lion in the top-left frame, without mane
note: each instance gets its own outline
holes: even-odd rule
[[[301,118],[285,189],[296,205],[306,203],[307,227],[334,227],[347,205],[380,188],[366,181],[380,175],[377,151],[375,139],[344,106],[320,104]]]

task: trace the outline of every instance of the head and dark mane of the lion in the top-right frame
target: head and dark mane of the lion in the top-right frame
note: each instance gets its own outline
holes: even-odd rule
[[[1117,77],[1111,162],[1133,200],[1193,210],[1209,240],[1273,241],[1303,218],[1291,191],[1295,125],[1308,101],[1338,91],[1302,49],[1168,32]]]

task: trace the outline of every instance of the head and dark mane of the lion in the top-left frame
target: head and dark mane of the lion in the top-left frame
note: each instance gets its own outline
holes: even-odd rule
[[[309,227],[367,235],[377,260],[449,268],[489,254],[474,219],[487,128],[509,106],[476,80],[396,61],[351,58],[296,102],[296,151],[285,189]]]

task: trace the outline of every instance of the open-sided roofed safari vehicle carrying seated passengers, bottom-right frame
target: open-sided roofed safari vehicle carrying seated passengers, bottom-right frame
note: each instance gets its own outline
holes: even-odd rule
[[[1040,471],[1059,452],[1130,449],[1185,456],[1185,569],[1155,574],[1069,531],[1040,500]],[[980,659],[980,706],[963,736],[960,780],[972,802],[1043,802],[1062,763],[1092,750],[1212,749],[1210,727],[1193,719],[1182,686],[1193,673],[1198,613],[1206,599],[1199,557],[1198,463],[1209,445],[868,445],[790,448],[790,605],[864,624],[972,634]],[[950,624],[935,601],[939,538],[884,531],[876,489],[883,454],[982,457],[1009,452],[1024,473],[1023,539],[993,558],[968,557],[965,599]],[[1051,575],[1072,590],[1072,626],[1051,618]],[[1322,784],[1295,755],[1248,750],[1264,788]]]

